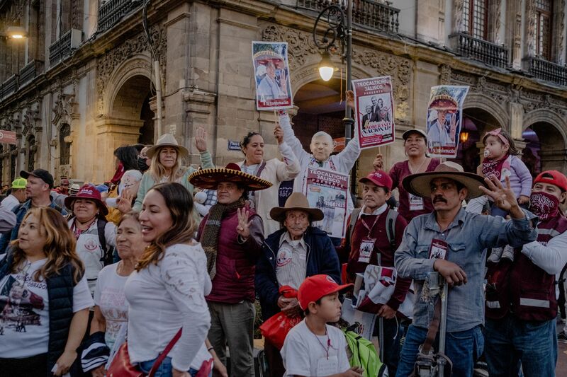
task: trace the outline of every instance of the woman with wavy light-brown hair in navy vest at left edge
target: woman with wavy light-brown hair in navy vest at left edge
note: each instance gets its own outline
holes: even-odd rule
[[[75,238],[59,212],[36,207],[12,246],[0,261],[0,373],[62,376],[77,359],[93,306]]]

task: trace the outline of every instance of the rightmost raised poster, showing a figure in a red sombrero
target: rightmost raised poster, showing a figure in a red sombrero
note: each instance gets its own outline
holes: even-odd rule
[[[427,106],[427,152],[433,157],[455,158],[468,86],[431,88]]]

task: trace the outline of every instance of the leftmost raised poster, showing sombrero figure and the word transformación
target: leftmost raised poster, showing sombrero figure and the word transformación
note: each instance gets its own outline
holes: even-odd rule
[[[257,109],[292,108],[287,42],[252,41],[252,64]]]

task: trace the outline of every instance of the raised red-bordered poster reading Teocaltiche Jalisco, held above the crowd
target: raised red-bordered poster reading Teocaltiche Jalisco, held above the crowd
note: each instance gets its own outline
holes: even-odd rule
[[[352,81],[361,149],[394,142],[392,81],[390,76]]]

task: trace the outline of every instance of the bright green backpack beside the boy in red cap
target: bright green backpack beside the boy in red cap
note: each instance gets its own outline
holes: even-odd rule
[[[364,369],[362,373],[364,377],[382,377],[386,371],[386,365],[380,361],[374,344],[354,331],[342,330],[342,332],[352,352],[352,357],[349,359],[350,366],[359,366]]]

